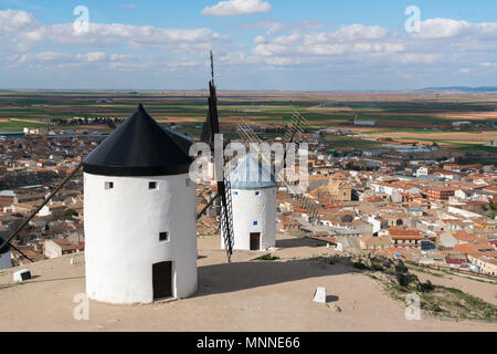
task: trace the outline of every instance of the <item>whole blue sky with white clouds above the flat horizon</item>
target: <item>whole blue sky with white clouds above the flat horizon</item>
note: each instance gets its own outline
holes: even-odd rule
[[[0,0],[0,88],[497,86],[495,0]]]

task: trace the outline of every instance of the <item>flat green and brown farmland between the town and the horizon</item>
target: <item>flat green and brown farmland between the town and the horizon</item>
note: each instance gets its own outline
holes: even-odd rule
[[[495,92],[220,91],[218,96],[221,129],[225,132],[233,132],[241,116],[254,126],[284,127],[297,111],[306,117],[309,129],[349,129],[353,137],[328,137],[337,149],[377,148],[385,140],[436,143],[459,150],[496,149],[484,146],[497,139]],[[179,124],[189,135],[198,135],[208,111],[207,97],[207,91],[0,91],[0,132],[42,127],[54,118],[126,118],[142,103],[157,121]],[[357,126],[353,119],[373,119],[376,124]],[[469,122],[470,126],[454,127],[458,121]]]

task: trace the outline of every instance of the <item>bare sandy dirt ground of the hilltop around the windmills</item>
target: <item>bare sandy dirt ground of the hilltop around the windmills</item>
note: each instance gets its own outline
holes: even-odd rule
[[[146,305],[89,301],[89,320],[73,316],[75,294],[85,291],[84,254],[25,266],[33,279],[12,283],[0,272],[0,331],[496,331],[495,323],[443,321],[422,314],[406,320],[404,305],[322,242],[278,236],[274,261],[264,252],[235,252],[226,263],[219,236],[199,239],[199,290],[189,299]],[[452,277],[452,275],[451,275]],[[436,277],[434,277],[436,278]],[[454,277],[455,278],[455,277]],[[448,281],[450,279],[445,279]],[[452,282],[451,282],[452,283]],[[463,284],[464,283],[464,284]],[[465,291],[495,303],[496,285],[472,280]],[[326,287],[327,304],[313,302]],[[341,312],[335,311],[338,305]]]

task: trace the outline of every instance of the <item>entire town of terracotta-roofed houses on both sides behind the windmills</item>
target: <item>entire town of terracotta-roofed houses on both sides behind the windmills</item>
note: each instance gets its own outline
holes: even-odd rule
[[[497,275],[497,169],[454,159],[337,157],[318,134],[309,144],[314,212],[284,185],[276,194],[278,232],[317,237],[349,252]],[[8,237],[70,174],[99,137],[6,139],[0,146],[0,237]],[[34,177],[33,177],[34,176]],[[24,188],[19,188],[23,186]],[[25,187],[28,186],[28,187]],[[218,235],[215,185],[198,183],[199,236]],[[82,175],[30,222],[14,244],[35,260],[84,250]],[[25,262],[12,250],[13,263]]]

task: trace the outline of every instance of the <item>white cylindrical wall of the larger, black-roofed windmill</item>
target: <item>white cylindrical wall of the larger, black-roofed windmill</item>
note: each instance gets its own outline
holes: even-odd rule
[[[195,185],[188,174],[84,174],[86,293],[109,303],[154,301],[152,264],[172,261],[172,292],[197,290]],[[105,189],[105,183],[114,183]],[[157,181],[158,189],[149,189]],[[169,241],[159,241],[159,232]]]

